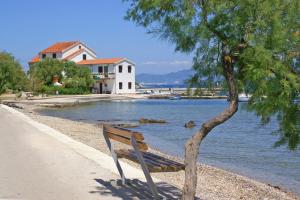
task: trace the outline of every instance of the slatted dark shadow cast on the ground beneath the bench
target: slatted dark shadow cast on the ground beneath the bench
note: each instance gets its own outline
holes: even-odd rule
[[[147,182],[142,182],[138,179],[127,179],[126,185],[122,185],[120,179],[111,179],[104,181],[102,179],[95,179],[101,186],[97,186],[95,191],[90,193],[99,193],[100,195],[109,195],[120,197],[124,200],[131,199],[154,199]],[[181,199],[181,190],[165,182],[156,183],[157,190],[161,199]],[[195,198],[200,200],[199,198]]]

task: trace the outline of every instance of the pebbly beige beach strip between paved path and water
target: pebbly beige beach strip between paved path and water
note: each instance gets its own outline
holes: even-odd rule
[[[41,116],[34,112],[34,106],[23,104],[23,113],[32,119],[44,123],[62,133],[85,143],[91,147],[109,154],[107,146],[102,136],[100,125],[88,124],[84,122],[71,121],[50,116]],[[126,146],[126,145],[124,145]],[[122,145],[116,145],[117,148],[124,148]],[[126,146],[128,148],[128,146]],[[162,154],[156,150],[156,153]],[[180,158],[165,155],[169,158],[182,162]],[[136,163],[124,160],[134,166],[139,167]],[[172,173],[153,173],[167,183],[178,188],[182,188],[184,183],[184,171]],[[222,169],[199,164],[198,166],[198,185],[197,196],[201,199],[297,199],[299,196],[291,192],[284,191],[277,187],[272,187],[264,183],[240,176]]]

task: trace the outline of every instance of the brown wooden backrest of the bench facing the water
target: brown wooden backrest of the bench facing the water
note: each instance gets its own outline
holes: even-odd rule
[[[131,145],[130,139],[131,137],[134,137],[137,141],[138,148],[141,151],[148,150],[148,145],[144,143],[144,136],[142,133],[130,131],[119,127],[113,127],[109,125],[103,125],[103,131],[107,134],[107,136],[110,139],[127,145]]]

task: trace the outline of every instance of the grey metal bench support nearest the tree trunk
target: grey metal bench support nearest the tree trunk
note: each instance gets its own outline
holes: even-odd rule
[[[156,185],[154,184],[152,178],[151,178],[151,175],[150,175],[150,172],[149,172],[149,169],[143,159],[143,156],[142,156],[142,153],[140,152],[138,146],[137,146],[137,141],[134,137],[131,137],[131,144],[135,150],[135,153],[136,153],[136,156],[141,164],[141,167],[143,169],[143,172],[144,172],[144,175],[146,177],[146,180],[147,180],[147,183],[150,187],[150,190],[153,194],[153,196],[155,197],[155,199],[161,199],[161,197],[158,195],[158,192],[157,192],[157,188],[156,188]]]

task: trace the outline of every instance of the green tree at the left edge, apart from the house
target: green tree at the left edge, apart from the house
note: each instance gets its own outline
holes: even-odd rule
[[[7,89],[27,90],[28,79],[21,64],[11,54],[0,52],[0,94]]]

